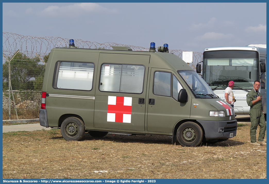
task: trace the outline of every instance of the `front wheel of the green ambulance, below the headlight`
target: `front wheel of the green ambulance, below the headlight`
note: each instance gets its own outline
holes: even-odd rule
[[[202,142],[203,130],[194,122],[185,122],[178,127],[176,137],[182,146],[197,146]]]

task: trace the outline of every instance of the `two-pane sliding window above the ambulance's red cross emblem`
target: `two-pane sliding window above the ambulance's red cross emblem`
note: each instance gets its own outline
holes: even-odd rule
[[[142,65],[102,64],[99,90],[140,94],[143,92],[144,73]]]

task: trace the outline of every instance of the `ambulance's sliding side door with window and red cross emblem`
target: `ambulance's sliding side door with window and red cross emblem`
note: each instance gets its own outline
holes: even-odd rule
[[[94,128],[145,130],[149,59],[148,55],[100,53]]]

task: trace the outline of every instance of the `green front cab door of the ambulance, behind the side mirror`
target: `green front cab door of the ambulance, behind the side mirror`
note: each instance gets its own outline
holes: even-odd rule
[[[147,131],[172,133],[178,121],[190,118],[191,97],[186,103],[177,101],[183,88],[177,78],[171,70],[151,69]]]

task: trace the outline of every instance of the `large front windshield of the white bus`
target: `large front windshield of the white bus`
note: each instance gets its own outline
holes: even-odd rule
[[[233,89],[250,90],[259,79],[259,54],[256,51],[218,50],[204,52],[203,77],[214,89],[225,89],[234,81]]]

